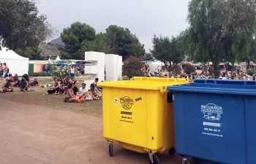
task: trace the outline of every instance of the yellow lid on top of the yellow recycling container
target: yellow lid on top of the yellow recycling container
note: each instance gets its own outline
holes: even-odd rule
[[[167,92],[169,85],[181,85],[188,83],[188,79],[171,79],[171,78],[157,78],[157,77],[134,77],[134,80],[123,80],[115,82],[100,82],[101,87],[118,87],[130,88],[140,90],[160,90]]]

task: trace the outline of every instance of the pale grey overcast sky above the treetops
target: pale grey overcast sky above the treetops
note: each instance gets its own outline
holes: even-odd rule
[[[157,36],[177,36],[187,28],[189,0],[37,0],[42,14],[59,31],[80,21],[98,32],[110,25],[129,28],[146,52],[152,47],[151,39]],[[59,36],[56,35],[56,37]]]

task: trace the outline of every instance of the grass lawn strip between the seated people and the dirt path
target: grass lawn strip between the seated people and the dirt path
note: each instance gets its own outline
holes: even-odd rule
[[[78,79],[80,82],[77,86],[80,88],[83,79]],[[52,79],[38,79],[40,84],[52,84]],[[1,84],[3,85],[3,84]],[[102,117],[102,100],[99,101],[86,101],[83,104],[69,104],[64,103],[64,95],[46,95],[48,89],[42,87],[30,87],[34,92],[23,93],[20,92],[18,87],[15,87],[13,93],[0,93],[1,99],[7,99],[13,102],[22,104],[31,104],[35,106],[43,106],[46,108],[69,110],[72,112],[84,113],[96,117]]]

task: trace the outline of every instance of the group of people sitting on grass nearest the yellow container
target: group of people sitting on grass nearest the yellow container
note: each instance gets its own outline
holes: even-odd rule
[[[102,87],[97,86],[98,82],[99,79],[96,78],[89,89],[87,89],[86,83],[82,83],[82,87],[78,90],[78,80],[57,77],[53,84],[40,85],[40,87],[48,89],[48,95],[64,95],[64,102],[82,103],[83,101],[99,100],[102,97]]]

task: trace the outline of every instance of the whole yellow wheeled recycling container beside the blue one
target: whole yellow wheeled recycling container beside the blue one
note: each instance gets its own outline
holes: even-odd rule
[[[101,82],[103,88],[103,136],[113,156],[113,141],[124,149],[148,153],[150,163],[159,163],[156,152],[174,154],[173,95],[168,85],[187,79],[134,77],[135,80]]]

